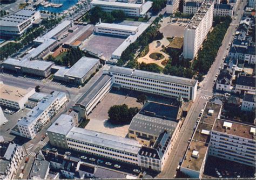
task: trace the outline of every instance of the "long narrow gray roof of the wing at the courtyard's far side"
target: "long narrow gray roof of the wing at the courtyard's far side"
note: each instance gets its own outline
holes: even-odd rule
[[[112,73],[120,73],[129,76],[137,76],[142,78],[147,78],[150,80],[157,80],[169,83],[176,83],[181,85],[188,85],[194,87],[197,84],[197,80],[191,80],[184,77],[170,76],[158,73],[152,73],[149,71],[143,71],[138,69],[130,69],[118,66],[106,66],[105,70],[111,71]]]

